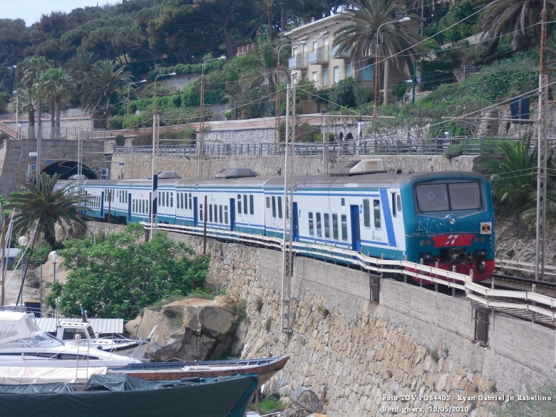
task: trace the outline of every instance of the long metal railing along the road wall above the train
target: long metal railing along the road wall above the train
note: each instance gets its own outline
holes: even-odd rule
[[[400,140],[393,138],[366,139],[359,142],[331,142],[328,145],[328,154],[337,155],[445,155],[448,157],[456,155],[471,156],[502,156],[500,143],[504,141],[518,141],[517,139],[498,138],[426,138]],[[552,147],[556,144],[555,139],[549,140]],[[322,156],[325,145],[322,142],[297,142],[295,143],[295,154],[305,156]],[[199,149],[196,144],[191,145],[165,145],[159,150],[162,155],[198,155]],[[230,156],[230,155],[252,155],[252,156],[275,156],[284,155],[284,143],[207,143],[204,147],[204,155],[208,156]],[[151,146],[117,147],[113,149],[114,154],[151,154]]]

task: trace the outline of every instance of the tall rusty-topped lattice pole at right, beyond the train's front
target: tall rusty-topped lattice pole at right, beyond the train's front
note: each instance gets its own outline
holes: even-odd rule
[[[537,162],[537,247],[535,252],[534,279],[544,279],[544,240],[546,224],[546,166],[548,160],[548,139],[546,136],[546,112],[548,111],[548,75],[546,74],[546,0],[541,13],[541,45],[539,63],[539,126]]]

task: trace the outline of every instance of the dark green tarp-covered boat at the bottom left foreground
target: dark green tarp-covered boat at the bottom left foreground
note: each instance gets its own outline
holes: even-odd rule
[[[258,379],[248,374],[148,382],[94,375],[86,388],[92,391],[0,390],[0,410],[2,417],[243,417]]]

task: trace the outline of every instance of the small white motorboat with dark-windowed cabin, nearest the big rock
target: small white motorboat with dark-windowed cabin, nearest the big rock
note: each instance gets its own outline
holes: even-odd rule
[[[140,361],[149,361],[147,347],[149,347],[149,342],[155,330],[156,326],[146,339],[130,339],[123,336],[99,337],[93,331],[90,322],[62,321],[56,329],[56,337],[66,345],[79,344],[104,352],[139,359]]]

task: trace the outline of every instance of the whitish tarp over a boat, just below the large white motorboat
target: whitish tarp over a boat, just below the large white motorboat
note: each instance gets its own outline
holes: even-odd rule
[[[0,384],[86,384],[91,375],[106,374],[106,366],[63,368],[51,366],[0,366]]]

